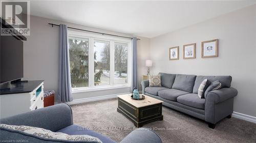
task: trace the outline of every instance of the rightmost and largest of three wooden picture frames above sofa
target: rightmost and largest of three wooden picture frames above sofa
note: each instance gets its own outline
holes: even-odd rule
[[[218,57],[218,39],[203,41],[201,55],[202,58]]]

